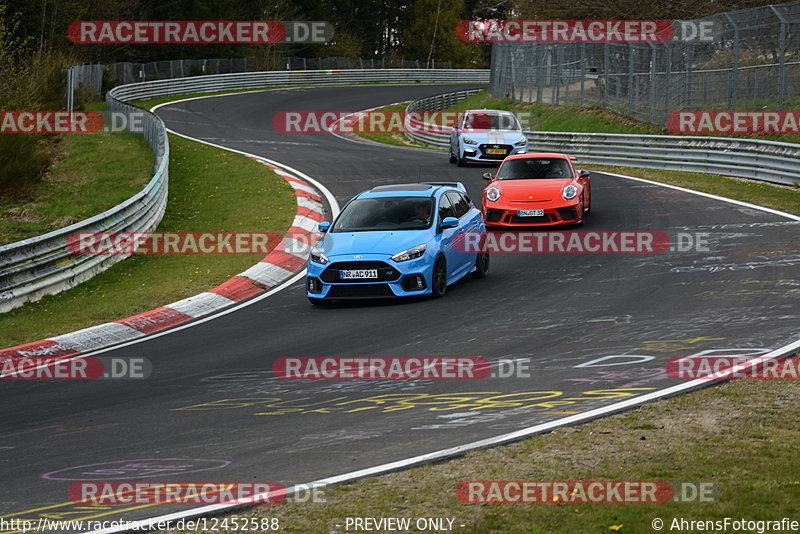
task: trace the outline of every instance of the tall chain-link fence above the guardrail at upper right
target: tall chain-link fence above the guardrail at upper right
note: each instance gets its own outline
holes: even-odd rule
[[[704,27],[709,40],[682,40]],[[676,28],[665,43],[495,43],[492,95],[599,104],[659,125],[672,111],[800,109],[800,2]]]

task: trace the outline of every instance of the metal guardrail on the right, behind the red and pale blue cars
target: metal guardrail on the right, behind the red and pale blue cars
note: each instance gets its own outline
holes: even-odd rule
[[[466,98],[463,91],[412,102],[407,111],[439,111]],[[438,109],[436,106],[441,106]],[[409,124],[407,124],[409,125]],[[447,150],[449,133],[435,125],[410,123],[406,137]],[[782,185],[800,183],[800,145],[759,139],[683,135],[642,135],[526,131],[528,148],[566,152],[600,165],[721,174]]]

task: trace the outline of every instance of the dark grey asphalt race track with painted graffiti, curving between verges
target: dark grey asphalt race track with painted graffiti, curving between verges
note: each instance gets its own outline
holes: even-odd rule
[[[342,204],[418,175],[462,181],[478,203],[480,176],[490,169],[457,168],[439,152],[272,127],[282,110],[359,110],[456,87],[464,86],[287,89],[170,104],[158,113],[179,133],[292,166]],[[308,482],[674,386],[664,367],[675,356],[762,354],[796,340],[800,223],[624,178],[593,173],[592,180],[583,230],[707,232],[710,251],[494,255],[488,278],[459,283],[438,300],[317,308],[298,282],[196,327],[105,353],[148,358],[148,380],[7,381],[0,515],[136,519],[184,510],[81,512],[68,489],[98,479]],[[579,367],[614,355],[640,357]],[[278,380],[272,362],[283,356],[530,358],[531,372]],[[126,463],[129,470],[116,469]]]

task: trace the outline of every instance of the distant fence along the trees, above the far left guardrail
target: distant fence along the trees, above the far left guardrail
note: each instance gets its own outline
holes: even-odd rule
[[[105,90],[114,85],[136,82],[186,78],[205,74],[232,74],[276,70],[335,70],[335,69],[424,69],[424,61],[399,59],[393,62],[382,59],[349,57],[264,57],[229,59],[176,59],[150,63],[114,63],[113,65],[78,65],[72,67],[73,87],[81,100],[98,100]],[[449,61],[437,61],[432,68],[450,69]],[[104,86],[105,83],[105,86]]]

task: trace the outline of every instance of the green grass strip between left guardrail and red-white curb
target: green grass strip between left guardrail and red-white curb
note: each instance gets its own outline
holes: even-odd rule
[[[289,227],[295,213],[294,192],[268,167],[172,135],[170,149],[169,200],[158,231],[283,233]],[[121,156],[118,151],[110,154],[111,159]],[[149,172],[148,167],[147,176]],[[210,289],[262,257],[132,257],[76,288],[0,315],[0,347],[157,308]]]

